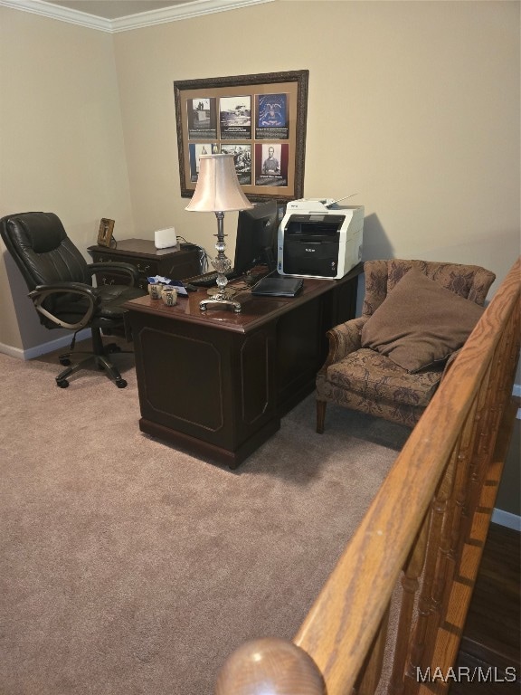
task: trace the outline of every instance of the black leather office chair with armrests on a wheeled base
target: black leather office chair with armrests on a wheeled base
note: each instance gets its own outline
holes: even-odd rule
[[[125,388],[127,382],[108,357],[121,350],[115,343],[103,345],[101,331],[106,335],[121,332],[122,305],[146,294],[135,287],[137,269],[128,263],[87,263],[53,213],[9,214],[0,220],[0,234],[22,271],[43,326],[74,331],[71,350],[60,356],[67,369],[56,376],[56,384],[66,388],[68,377],[93,360],[118,388]],[[109,267],[128,275],[129,284],[94,287],[94,273]],[[93,350],[77,352],[82,358],[71,365],[76,333],[82,328],[90,328]]]

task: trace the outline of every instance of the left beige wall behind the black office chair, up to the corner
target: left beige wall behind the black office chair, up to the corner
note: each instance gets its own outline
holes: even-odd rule
[[[4,6],[0,32],[0,216],[55,212],[91,260],[101,217],[133,232],[112,36]],[[4,249],[0,346],[58,338]]]

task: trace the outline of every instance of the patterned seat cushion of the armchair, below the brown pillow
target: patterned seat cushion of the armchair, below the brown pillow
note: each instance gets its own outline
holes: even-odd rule
[[[392,359],[361,348],[327,367],[327,381],[368,400],[426,407],[438,387],[442,367],[410,374]]]

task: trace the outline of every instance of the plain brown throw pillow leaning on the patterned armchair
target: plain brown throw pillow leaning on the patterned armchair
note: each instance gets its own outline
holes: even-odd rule
[[[483,311],[411,270],[365,322],[362,347],[390,357],[408,372],[419,372],[461,348]]]

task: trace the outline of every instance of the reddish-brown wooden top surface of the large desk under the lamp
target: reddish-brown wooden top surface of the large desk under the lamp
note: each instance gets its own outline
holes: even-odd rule
[[[297,297],[259,297],[251,295],[250,290],[239,290],[233,297],[242,304],[241,313],[234,313],[231,309],[207,309],[201,311],[199,302],[208,297],[206,289],[189,292],[187,297],[178,296],[174,307],[167,307],[162,300],[153,300],[148,295],[130,300],[124,306],[130,312],[149,314],[162,319],[172,319],[185,323],[205,325],[209,328],[221,328],[238,333],[247,333],[259,328],[264,323],[277,319],[282,314],[296,309],[315,297],[329,290],[333,290],[339,284],[357,277],[363,270],[359,263],[352,271],[349,271],[341,280],[322,280],[317,278],[305,278],[302,292]],[[233,281],[233,284],[241,281]],[[241,284],[242,286],[242,284]]]

